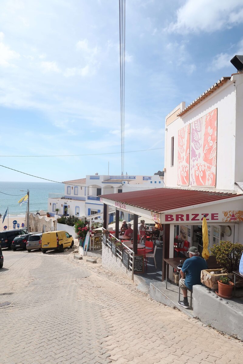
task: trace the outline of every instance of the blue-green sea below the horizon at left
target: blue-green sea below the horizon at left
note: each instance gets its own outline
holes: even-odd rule
[[[30,212],[47,211],[48,194],[64,193],[64,185],[55,182],[0,182],[0,213],[3,215],[8,207],[9,215],[25,215],[27,203],[20,206],[18,201],[26,194],[20,190],[27,189],[30,191]]]

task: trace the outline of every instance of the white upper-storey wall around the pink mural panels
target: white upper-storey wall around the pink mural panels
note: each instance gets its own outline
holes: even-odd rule
[[[242,75],[243,78],[243,75]],[[242,88],[239,87],[239,95],[242,98]],[[216,189],[232,190],[235,182],[235,86],[233,81],[228,81],[194,106],[183,116],[169,124],[165,131],[165,185],[166,187],[177,187],[177,144],[178,130],[194,120],[204,116],[217,108],[217,168]],[[242,110],[239,118],[242,120]],[[239,148],[242,145],[241,123],[239,134]],[[174,137],[174,166],[171,167],[171,138]],[[242,153],[241,153],[242,154]],[[240,172],[243,174],[243,169]],[[241,177],[241,176],[240,176]],[[243,181],[243,179],[242,179]],[[186,187],[186,186],[184,186]],[[189,185],[190,187],[190,185]],[[187,187],[188,188],[188,187]],[[195,187],[193,187],[195,188]],[[198,188],[198,187],[196,187]],[[203,187],[200,187],[203,188]],[[205,187],[204,189],[213,189]]]

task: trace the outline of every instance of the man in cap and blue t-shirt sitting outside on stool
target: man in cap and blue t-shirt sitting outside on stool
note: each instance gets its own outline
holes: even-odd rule
[[[205,260],[199,257],[199,251],[196,246],[191,246],[187,253],[189,253],[190,259],[186,259],[181,267],[181,279],[179,282],[183,292],[183,301],[178,301],[178,304],[184,308],[189,308],[187,290],[192,290],[192,286],[195,284],[201,284],[201,270],[208,268]]]

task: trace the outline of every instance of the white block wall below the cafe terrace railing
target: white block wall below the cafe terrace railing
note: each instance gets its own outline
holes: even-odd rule
[[[108,251],[108,246],[105,246],[104,244],[102,244],[102,266],[117,276],[121,276],[122,278],[132,281],[132,271],[126,269],[126,267],[122,264],[122,261],[118,257],[115,257],[114,254],[111,254],[111,249],[109,248]],[[133,281],[135,284],[141,283],[135,274]]]

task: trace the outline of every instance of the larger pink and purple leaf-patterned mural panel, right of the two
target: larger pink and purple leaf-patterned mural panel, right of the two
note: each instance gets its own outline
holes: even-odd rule
[[[217,109],[192,122],[191,185],[216,185]]]

